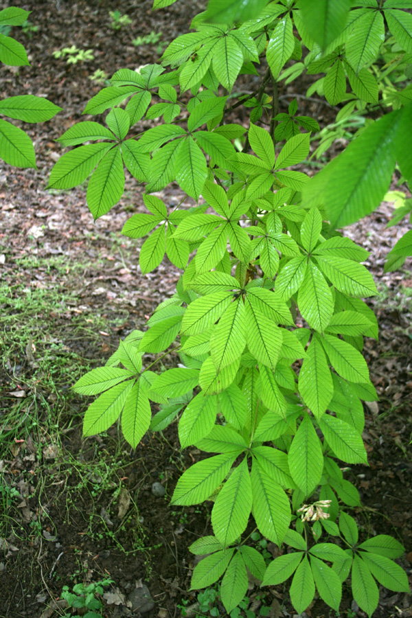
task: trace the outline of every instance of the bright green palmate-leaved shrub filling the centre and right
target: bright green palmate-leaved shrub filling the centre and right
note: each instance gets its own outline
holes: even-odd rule
[[[155,8],[172,2],[155,0]],[[363,301],[376,294],[361,264],[369,254],[337,230],[380,203],[396,165],[411,183],[412,18],[405,8],[412,3],[210,0],[161,64],[119,69],[91,98],[84,113],[110,110],[106,126],[87,120],[59,139],[77,148],[54,165],[49,187],[68,190],[91,174],[87,203],[98,218],[121,198],[126,167],[146,185],[148,212],[123,229],[148,237],[142,273],[165,253],[183,271],[148,329],[120,341],[104,367],[76,382],[77,393],[100,395],[85,413],[84,435],[120,420],[137,448],[146,431],[179,419],[181,447],[210,455],[183,472],[172,504],[214,502],[213,535],[190,547],[206,556],[192,589],[222,577],[227,613],[247,593],[248,570],[262,586],[292,577],[297,613],[316,589],[339,611],[350,574],[354,599],[369,616],[376,582],[409,591],[394,562],[402,545],[387,535],[359,542],[347,512],[361,502],[341,462],[367,465],[362,400],[377,396],[361,352],[378,325]],[[297,115],[297,101],[279,113],[279,82],[304,72],[321,75],[312,88],[331,106],[343,104],[339,113],[353,104],[347,117],[356,110],[365,119],[312,179],[291,168],[308,157],[319,126]],[[233,89],[242,74],[260,76],[260,85],[240,98]],[[241,104],[250,111],[248,128],[227,122]],[[163,121],[144,130],[144,117]],[[130,128],[136,137],[128,137]],[[170,208],[154,193],[173,181],[183,197]],[[388,270],[411,255],[411,241],[409,231]],[[172,351],[181,366],[153,371]],[[146,354],[159,356],[150,362]],[[161,405],[153,418],[150,402]],[[264,545],[250,545],[254,528],[282,555],[266,564]]]

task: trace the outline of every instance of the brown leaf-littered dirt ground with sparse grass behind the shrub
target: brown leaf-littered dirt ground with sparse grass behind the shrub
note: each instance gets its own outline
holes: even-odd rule
[[[143,187],[135,180],[129,177],[120,203],[96,222],[84,186],[69,192],[46,187],[62,152],[54,140],[80,119],[87,100],[102,87],[89,77],[97,69],[111,76],[119,68],[157,60],[162,44],[187,32],[198,3],[182,0],[159,12],[151,11],[151,0],[11,4],[32,10],[30,22],[38,30],[12,32],[32,66],[3,67],[0,92],[47,95],[63,111],[47,124],[25,126],[34,140],[37,170],[0,168],[0,618],[61,616],[62,586],[107,577],[113,584],[104,595],[104,617],[174,618],[181,606],[196,602],[189,592],[194,556],[187,546],[210,531],[208,504],[169,505],[181,472],[199,453],[181,452],[175,424],[163,436],[146,435],[136,450],[116,428],[82,439],[89,399],[69,387],[104,363],[119,337],[144,328],[157,304],[174,293],[179,271],[164,261],[142,276],[139,242],[120,234],[126,218],[143,209]],[[128,14],[132,23],[113,29],[109,11],[114,10]],[[152,32],[161,34],[157,43],[133,45],[133,38]],[[93,49],[95,59],[68,65],[52,56],[71,45]],[[248,79],[244,87],[253,91],[255,78]],[[293,93],[304,91],[302,82],[290,84],[281,93],[281,111]],[[325,126],[336,111],[299,99],[299,113]],[[236,119],[242,122],[241,116]],[[179,187],[170,185],[162,198],[177,203]],[[365,341],[380,398],[365,406],[369,467],[353,466],[347,478],[356,483],[365,506],[353,513],[361,537],[398,538],[406,548],[399,563],[412,582],[411,261],[403,271],[383,273],[385,256],[410,226],[404,220],[386,229],[392,212],[393,205],[382,203],[345,230],[371,252],[366,264],[380,292],[370,301],[379,341]],[[173,354],[165,361],[177,362]],[[165,488],[164,496],[152,494],[156,482]],[[139,609],[142,586],[153,603]],[[136,590],[140,601],[130,604]],[[251,582],[249,600],[256,615],[294,615],[286,585],[263,593]],[[217,609],[225,615],[222,606]],[[347,585],[341,613],[365,616]],[[306,614],[335,615],[320,599]],[[410,595],[381,588],[374,616],[411,617]]]

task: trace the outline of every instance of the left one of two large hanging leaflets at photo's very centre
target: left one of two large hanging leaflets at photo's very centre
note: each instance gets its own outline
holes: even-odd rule
[[[218,371],[242,355],[246,345],[246,323],[242,298],[229,305],[210,340],[211,358]]]

